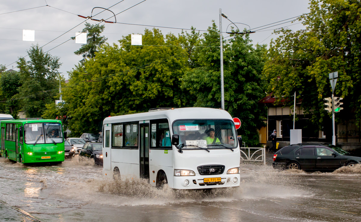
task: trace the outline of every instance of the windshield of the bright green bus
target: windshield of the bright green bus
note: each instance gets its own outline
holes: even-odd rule
[[[25,143],[62,143],[61,123],[27,123],[24,125]]]

